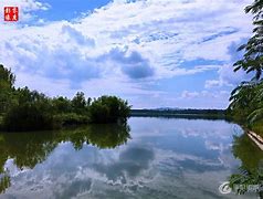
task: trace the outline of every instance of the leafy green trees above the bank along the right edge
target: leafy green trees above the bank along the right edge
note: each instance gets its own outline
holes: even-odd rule
[[[263,135],[263,0],[245,8],[253,14],[253,35],[238,51],[244,51],[242,60],[234,63],[234,71],[252,73],[253,78],[233,90],[228,114],[238,123]]]

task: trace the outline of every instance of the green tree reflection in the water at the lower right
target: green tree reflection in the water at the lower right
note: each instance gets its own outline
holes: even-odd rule
[[[246,134],[234,136],[232,151],[241,160],[239,172],[230,176],[231,188],[240,195],[256,191],[263,198],[263,153]],[[250,190],[257,189],[257,190]]]

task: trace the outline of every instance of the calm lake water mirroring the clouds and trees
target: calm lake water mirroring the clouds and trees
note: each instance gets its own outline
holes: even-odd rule
[[[0,198],[256,198],[219,186],[262,157],[224,121],[132,117],[127,126],[0,134]]]

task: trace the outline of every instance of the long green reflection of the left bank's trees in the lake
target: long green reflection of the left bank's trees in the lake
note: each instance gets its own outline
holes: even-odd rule
[[[115,148],[126,144],[130,138],[129,126],[88,125],[75,129],[38,133],[1,133],[0,134],[0,193],[10,187],[9,171],[4,170],[8,159],[19,169],[34,168],[44,161],[60,144],[71,142],[76,150],[84,144],[103,148]]]

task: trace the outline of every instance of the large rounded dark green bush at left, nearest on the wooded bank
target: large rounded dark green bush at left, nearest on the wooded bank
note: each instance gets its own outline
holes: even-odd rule
[[[14,93],[15,103],[3,117],[7,130],[39,130],[54,127],[50,98],[36,91],[31,92],[28,87],[18,88]]]

